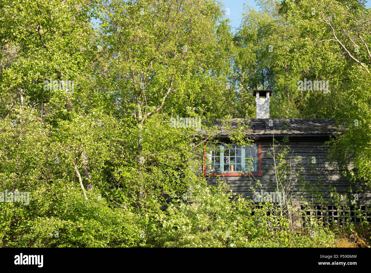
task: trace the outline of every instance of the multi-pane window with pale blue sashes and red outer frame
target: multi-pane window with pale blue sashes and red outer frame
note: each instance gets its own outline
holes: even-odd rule
[[[238,176],[243,172],[248,175],[261,175],[261,145],[250,146],[220,145],[205,154],[207,164],[205,175]]]

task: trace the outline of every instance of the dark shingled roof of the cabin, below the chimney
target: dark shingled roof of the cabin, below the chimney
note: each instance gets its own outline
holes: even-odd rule
[[[237,121],[248,126],[247,136],[335,136],[342,133],[342,128],[335,125],[335,120],[328,118],[232,118],[230,126],[236,128]],[[217,120],[213,125],[218,127],[221,136],[228,136],[229,132],[220,122]],[[204,129],[199,133],[207,134]]]

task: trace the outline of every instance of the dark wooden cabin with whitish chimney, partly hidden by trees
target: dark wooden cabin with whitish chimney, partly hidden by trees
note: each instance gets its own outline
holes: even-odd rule
[[[313,204],[309,213],[316,215],[321,214],[321,208],[323,209],[323,204],[326,203],[330,217],[336,218],[336,199],[331,195],[336,189],[339,195],[347,197],[342,200],[344,205],[349,205],[351,199],[355,199],[366,218],[370,220],[370,214],[367,212],[367,206],[371,204],[370,187],[361,181],[351,183],[347,177],[342,176],[339,162],[330,162],[329,146],[325,142],[341,134],[341,126],[336,126],[335,120],[326,118],[270,118],[271,95],[269,90],[255,90],[257,118],[230,120],[232,127],[236,127],[240,122],[248,127],[246,136],[254,140],[251,146],[228,145],[229,132],[223,124],[214,124],[220,133],[219,140],[224,145],[215,147],[204,155],[202,171],[209,185],[215,185],[220,178],[233,192],[255,198],[255,201],[263,201],[263,194],[272,194],[278,188],[282,189],[276,183],[276,170],[280,162],[277,154],[286,147],[288,152],[283,166],[286,166],[285,183],[286,188],[290,190],[292,202],[300,204],[302,208],[305,202]],[[201,133],[206,134],[206,131],[201,130]],[[273,139],[281,144],[273,145]],[[284,139],[286,142],[282,142]],[[352,169],[352,166],[349,166],[349,169]],[[261,186],[257,186],[257,182]],[[349,193],[350,188],[355,196]],[[347,208],[344,205],[342,208]],[[350,206],[349,210],[352,208],[354,207]],[[355,215],[352,221],[357,222]]]

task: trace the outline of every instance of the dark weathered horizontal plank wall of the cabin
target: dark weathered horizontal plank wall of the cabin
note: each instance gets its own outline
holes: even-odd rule
[[[341,176],[338,164],[330,164],[329,155],[327,153],[328,147],[323,146],[325,140],[328,139],[324,137],[312,137],[311,139],[292,137],[290,138],[290,142],[288,144],[290,147],[288,156],[292,155],[292,172],[297,173],[301,169],[302,180],[305,181],[305,183],[310,183],[313,185],[315,185],[315,183],[319,183],[316,188],[319,192],[323,193],[324,199],[331,204],[333,201],[331,198],[331,191],[328,186],[335,187],[338,194],[347,195],[347,198],[351,198],[348,192],[351,184],[347,178]],[[252,198],[253,191],[250,188],[251,186],[256,191],[260,192],[260,188],[255,185],[257,182],[256,180],[262,184],[264,191],[275,191],[276,189],[274,170],[271,165],[273,164],[273,158],[269,156],[269,151],[272,150],[272,139],[262,139],[261,141],[263,176],[220,177],[221,181],[226,182],[233,192],[242,194],[244,197],[249,196]],[[300,159],[298,159],[298,156],[300,156]],[[316,163],[311,163],[312,156],[315,156]],[[298,176],[293,176],[293,181],[295,181],[296,178],[298,178]],[[209,177],[207,179],[209,185],[216,184],[217,177]],[[354,193],[357,192],[359,195],[358,204],[371,204],[370,187],[365,186],[365,184],[360,181],[357,183],[361,185],[363,190],[363,192],[357,192],[358,186],[352,186],[352,191]],[[296,191],[294,191],[294,197],[298,199],[299,195],[297,191],[300,188],[299,183],[296,182],[293,188],[296,188]]]

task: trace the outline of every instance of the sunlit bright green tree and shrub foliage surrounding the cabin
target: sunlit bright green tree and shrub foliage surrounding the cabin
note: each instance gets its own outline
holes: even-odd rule
[[[349,14],[367,17],[356,2],[332,2],[318,5],[335,7],[339,29]],[[0,192],[30,196],[0,202],[0,246],[328,246],[333,233],[313,219],[316,237],[293,230],[282,208],[206,185],[198,170],[204,148],[220,144],[216,128],[203,123],[199,137],[170,126],[252,117],[250,90],[269,87],[272,117],[343,118],[334,157],[354,158],[359,172],[345,173],[369,179],[367,65],[316,42],[331,33],[302,12],[309,2],[262,5],[232,35],[213,0],[0,1]],[[347,25],[353,40],[360,24]],[[304,77],[330,79],[331,96],[298,91]],[[46,88],[50,79],[74,88]],[[239,125],[227,126],[231,140],[249,145]],[[286,156],[275,155],[282,184]]]

